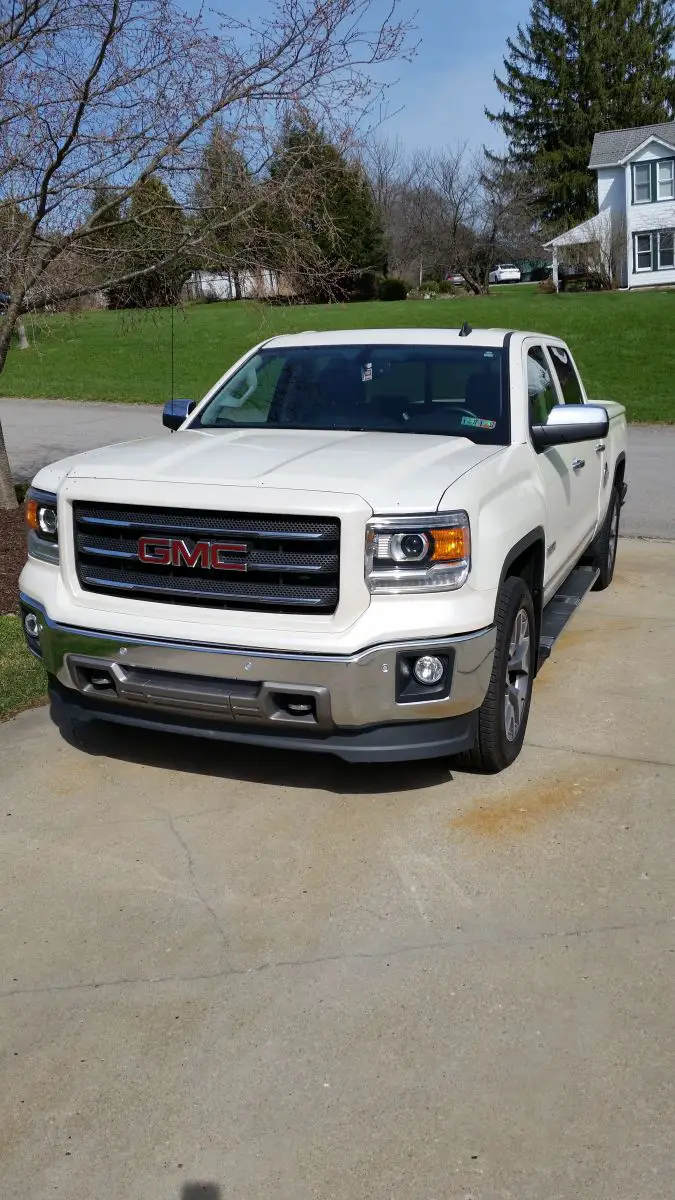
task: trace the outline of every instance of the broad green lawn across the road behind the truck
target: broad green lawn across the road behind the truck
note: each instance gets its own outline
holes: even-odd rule
[[[490,296],[268,307],[193,305],[174,314],[175,396],[199,398],[249,347],[283,331],[357,326],[530,329],[563,337],[592,397],[619,400],[633,421],[675,422],[675,290]],[[171,312],[90,312],[34,322],[30,350],[12,349],[5,396],[160,403],[172,392]]]

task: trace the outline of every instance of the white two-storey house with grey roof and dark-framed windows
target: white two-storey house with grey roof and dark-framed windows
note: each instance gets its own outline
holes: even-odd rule
[[[558,257],[595,247],[625,288],[675,284],[675,121],[596,133],[589,168],[598,178],[598,212],[554,238]]]

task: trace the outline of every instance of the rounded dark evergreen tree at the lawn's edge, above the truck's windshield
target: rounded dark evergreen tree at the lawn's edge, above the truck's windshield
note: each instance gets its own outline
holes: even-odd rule
[[[365,172],[301,115],[287,122],[270,168],[271,253],[292,247],[313,270],[312,299],[360,294],[384,265],[384,239]],[[283,263],[279,264],[281,269]]]

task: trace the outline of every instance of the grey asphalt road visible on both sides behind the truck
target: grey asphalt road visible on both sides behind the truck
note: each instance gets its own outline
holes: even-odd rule
[[[65,455],[162,432],[160,409],[138,404],[0,400],[0,420],[17,481]],[[632,426],[628,439],[622,533],[675,539],[675,426]]]

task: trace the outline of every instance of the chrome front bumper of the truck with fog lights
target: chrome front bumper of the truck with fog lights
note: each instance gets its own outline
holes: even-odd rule
[[[239,727],[316,736],[395,722],[435,721],[480,707],[492,670],[496,631],[370,647],[353,655],[246,652],[139,637],[110,636],[53,622],[22,596],[40,623],[29,649],[49,674],[86,700],[95,715],[115,706],[138,716],[183,714]],[[404,697],[405,662],[436,654],[448,664],[442,688]],[[76,697],[73,696],[73,700]],[[90,702],[90,703],[89,703]],[[285,728],[283,728],[285,727]]]

